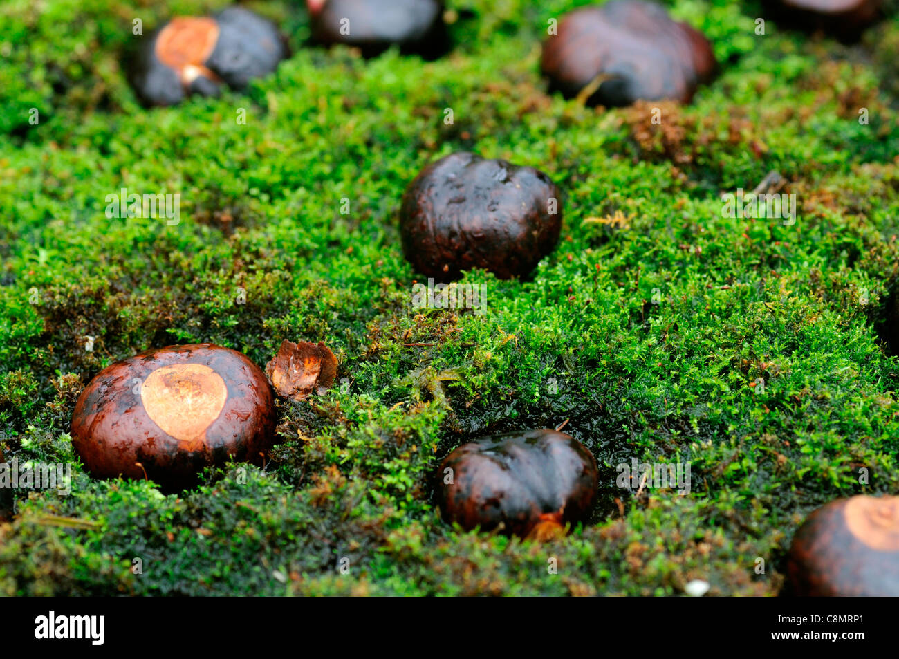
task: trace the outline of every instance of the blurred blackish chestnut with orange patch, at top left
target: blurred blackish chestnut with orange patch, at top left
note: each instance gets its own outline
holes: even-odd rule
[[[215,18],[178,16],[141,43],[129,70],[148,105],[174,105],[186,95],[215,96],[221,85],[243,89],[288,55],[275,26],[243,7]]]

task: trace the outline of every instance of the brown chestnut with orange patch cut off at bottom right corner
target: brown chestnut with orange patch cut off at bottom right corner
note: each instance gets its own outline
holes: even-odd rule
[[[803,523],[787,558],[788,593],[899,596],[899,497],[853,496]]]

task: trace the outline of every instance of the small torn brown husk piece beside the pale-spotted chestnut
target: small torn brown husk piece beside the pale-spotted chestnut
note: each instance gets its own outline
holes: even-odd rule
[[[300,401],[334,384],[337,358],[325,343],[285,340],[275,358],[265,365],[265,374],[279,396]]]

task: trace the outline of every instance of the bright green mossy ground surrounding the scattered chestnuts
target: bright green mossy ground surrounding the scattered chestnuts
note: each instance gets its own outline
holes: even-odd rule
[[[757,36],[757,4],[676,2],[721,75],[688,106],[594,111],[539,78],[547,20],[584,2],[454,0],[433,63],[308,48],[299,3],[260,2],[294,53],[276,75],[139,107],[132,20],[222,4],[0,6],[0,443],[76,465],[68,496],[15,492],[0,593],[774,594],[807,512],[899,490],[899,20],[847,46]],[[396,230],[405,185],[459,149],[565,191],[532,281],[467,274],[483,316],[413,308]],[[795,225],[722,217],[771,170]],[[180,192],[181,223],[107,218],[122,187]],[[280,406],[266,468],[164,496],[78,465],[68,421],[102,367],[194,342],[264,364],[284,338],[324,341],[346,379]],[[566,419],[603,468],[591,523],[535,544],[440,521],[448,450]],[[616,488],[631,457],[690,461],[690,494]]]

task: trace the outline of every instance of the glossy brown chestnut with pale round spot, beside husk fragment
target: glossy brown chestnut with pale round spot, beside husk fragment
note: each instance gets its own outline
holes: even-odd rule
[[[240,352],[200,343],[100,371],[78,398],[71,435],[92,476],[143,478],[146,470],[173,491],[231,457],[262,464],[274,425],[263,371]]]

